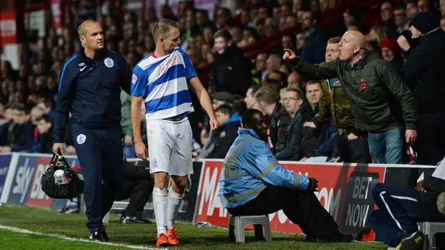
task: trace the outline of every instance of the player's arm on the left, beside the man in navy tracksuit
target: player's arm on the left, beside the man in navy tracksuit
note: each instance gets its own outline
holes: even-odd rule
[[[140,135],[140,105],[147,97],[147,74],[138,65],[133,69],[131,76],[131,128],[133,129],[133,141],[136,156],[147,159],[147,148]]]

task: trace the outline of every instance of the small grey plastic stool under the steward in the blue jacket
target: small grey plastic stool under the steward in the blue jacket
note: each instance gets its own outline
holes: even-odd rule
[[[254,225],[255,240],[264,240],[263,227],[266,232],[266,242],[272,241],[269,215],[229,215],[229,239],[235,242],[245,242],[244,228]]]

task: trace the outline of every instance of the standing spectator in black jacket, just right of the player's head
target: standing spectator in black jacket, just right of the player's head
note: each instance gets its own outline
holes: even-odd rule
[[[220,30],[214,38],[216,53],[211,71],[211,92],[245,94],[252,78],[250,64],[244,58],[243,51],[230,44],[232,37],[228,31]]]

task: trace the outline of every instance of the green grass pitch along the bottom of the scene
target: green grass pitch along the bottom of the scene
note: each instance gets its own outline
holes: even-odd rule
[[[0,206],[0,249],[155,249],[156,226],[122,225],[112,215],[106,231],[110,243],[88,241],[85,215],[58,215],[54,210]],[[177,224],[179,247],[168,249],[387,249],[378,243],[314,244],[304,236],[273,233],[273,242],[254,242],[253,231],[246,231],[246,243],[229,242],[227,228],[196,228]]]

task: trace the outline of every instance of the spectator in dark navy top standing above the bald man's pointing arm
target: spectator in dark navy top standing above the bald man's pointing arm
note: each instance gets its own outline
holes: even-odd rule
[[[316,28],[317,20],[312,11],[306,11],[302,16],[302,29],[306,32],[305,47],[301,58],[308,63],[323,63],[325,60],[326,38],[320,29]]]

